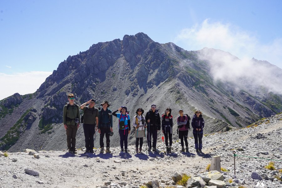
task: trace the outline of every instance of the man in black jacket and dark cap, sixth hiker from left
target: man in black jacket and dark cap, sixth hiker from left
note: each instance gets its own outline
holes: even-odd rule
[[[147,140],[148,140],[148,151],[151,151],[151,136],[153,135],[153,151],[157,151],[157,133],[160,130],[160,117],[159,112],[156,110],[156,105],[151,105],[151,110],[146,113],[145,120],[148,124],[147,128]]]

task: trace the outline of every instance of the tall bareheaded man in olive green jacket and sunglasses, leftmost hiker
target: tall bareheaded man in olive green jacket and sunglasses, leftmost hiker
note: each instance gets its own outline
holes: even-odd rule
[[[63,123],[67,135],[69,153],[76,154],[76,132],[79,128],[80,113],[79,106],[74,102],[74,94],[68,94],[67,104],[63,109]]]

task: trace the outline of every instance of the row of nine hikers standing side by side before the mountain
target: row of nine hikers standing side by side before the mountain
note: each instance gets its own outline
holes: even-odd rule
[[[127,107],[122,106],[112,112],[109,109],[110,104],[108,101],[103,101],[101,103],[102,108],[99,110],[95,107],[94,99],[90,99],[89,101],[83,103],[80,107],[74,102],[74,100],[74,94],[68,94],[68,102],[63,108],[63,123],[66,130],[69,153],[76,154],[76,132],[80,123],[83,123],[86,153],[94,153],[94,134],[97,130],[100,134],[100,153],[104,153],[104,136],[106,136],[106,153],[111,153],[110,136],[113,135],[112,116],[118,118],[121,152],[128,153],[128,134],[130,134],[131,131],[131,121]],[[79,108],[83,110],[81,118]],[[144,110],[142,108],[138,108],[136,110],[136,115],[132,119],[136,138],[136,153],[142,152],[144,137],[148,143],[147,151],[157,151],[157,133],[161,128],[162,133],[165,136],[166,152],[171,153],[172,119],[173,117],[171,115],[170,108],[165,110],[165,113],[161,115],[161,118],[155,104],[151,105],[151,109],[145,114],[145,116]],[[179,116],[177,117],[177,133],[181,142],[180,151],[182,152],[189,152],[187,135],[190,129],[190,120],[191,118],[187,114],[184,115],[183,110],[180,109]],[[196,152],[202,152],[204,119],[202,118],[202,112],[200,110],[196,110],[192,118],[191,125],[193,128]],[[151,137],[153,137],[153,143],[151,142]],[[184,148],[184,142],[186,148]]]

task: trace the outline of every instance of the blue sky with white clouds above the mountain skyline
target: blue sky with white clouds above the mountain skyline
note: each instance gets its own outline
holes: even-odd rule
[[[69,55],[138,32],[282,68],[281,18],[282,1],[1,0],[0,100],[33,93]]]

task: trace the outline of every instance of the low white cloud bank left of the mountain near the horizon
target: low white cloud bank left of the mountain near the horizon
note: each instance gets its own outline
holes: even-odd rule
[[[0,73],[1,88],[0,100],[14,93],[21,95],[34,93],[52,72],[31,71],[14,74]]]

